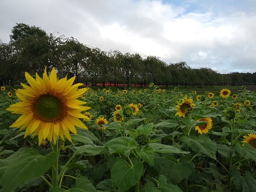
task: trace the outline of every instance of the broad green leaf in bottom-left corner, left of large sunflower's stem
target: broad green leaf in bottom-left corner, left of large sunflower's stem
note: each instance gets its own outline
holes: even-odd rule
[[[43,175],[56,158],[55,152],[43,156],[36,149],[21,148],[10,157],[0,159],[1,192],[13,191],[29,179]]]

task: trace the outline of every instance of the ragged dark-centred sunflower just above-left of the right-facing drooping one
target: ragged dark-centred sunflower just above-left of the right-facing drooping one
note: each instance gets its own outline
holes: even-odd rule
[[[181,100],[182,101],[179,103],[179,105],[176,106],[176,110],[178,110],[178,112],[175,114],[175,116],[179,115],[179,117],[185,117],[185,115],[193,109],[193,106],[195,106],[195,104],[193,103],[192,98],[188,99],[187,97],[185,97]]]

